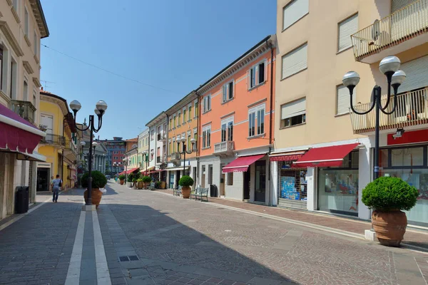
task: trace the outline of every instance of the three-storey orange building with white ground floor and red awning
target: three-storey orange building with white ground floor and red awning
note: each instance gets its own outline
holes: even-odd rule
[[[199,179],[210,193],[268,203],[276,36],[267,36],[196,90]],[[272,61],[273,58],[273,61]]]

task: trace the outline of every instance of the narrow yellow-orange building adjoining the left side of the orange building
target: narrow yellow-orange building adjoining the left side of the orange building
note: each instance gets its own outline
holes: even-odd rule
[[[165,169],[168,188],[177,188],[183,175],[189,175],[193,178],[194,186],[198,185],[198,104],[198,95],[192,91],[165,111],[168,115],[168,165]],[[192,145],[194,140],[196,142]]]

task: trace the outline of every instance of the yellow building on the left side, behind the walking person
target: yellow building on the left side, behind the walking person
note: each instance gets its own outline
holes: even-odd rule
[[[41,90],[40,127],[46,137],[40,142],[39,152],[46,156],[46,162],[37,164],[37,191],[48,191],[51,176],[56,175],[60,175],[66,189],[74,187],[78,138],[64,98]]]

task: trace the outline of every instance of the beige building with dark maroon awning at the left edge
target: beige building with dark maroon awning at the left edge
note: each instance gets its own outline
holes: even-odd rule
[[[16,187],[36,197],[40,40],[49,36],[40,1],[0,3],[0,219],[14,214]],[[21,120],[22,119],[22,120]],[[14,134],[14,135],[11,135]],[[15,138],[15,139],[13,139]]]

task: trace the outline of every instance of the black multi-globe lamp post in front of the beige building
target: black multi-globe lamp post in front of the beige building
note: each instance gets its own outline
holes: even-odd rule
[[[395,112],[395,109],[397,108],[397,90],[399,86],[404,82],[406,79],[406,73],[404,71],[399,70],[401,62],[399,61],[399,58],[397,56],[387,56],[386,58],[382,59],[379,63],[379,70],[384,73],[385,76],[387,76],[387,83],[388,83],[388,94],[387,94],[387,103],[382,107],[382,104],[380,102],[381,99],[381,91],[382,89],[380,86],[374,86],[372,90],[372,106],[369,110],[365,112],[358,112],[355,110],[354,106],[352,105],[352,93],[357,86],[357,84],[360,82],[360,76],[355,71],[349,71],[343,76],[342,82],[343,85],[345,85],[350,90],[350,105],[352,112],[358,114],[358,115],[366,115],[367,113],[370,113],[373,108],[376,108],[376,125],[374,127],[374,169],[373,169],[373,180],[376,180],[379,177],[379,112],[384,113],[385,115],[391,115]],[[394,107],[390,112],[387,112],[387,108],[389,106],[389,101],[391,98],[391,86],[394,89]]]

